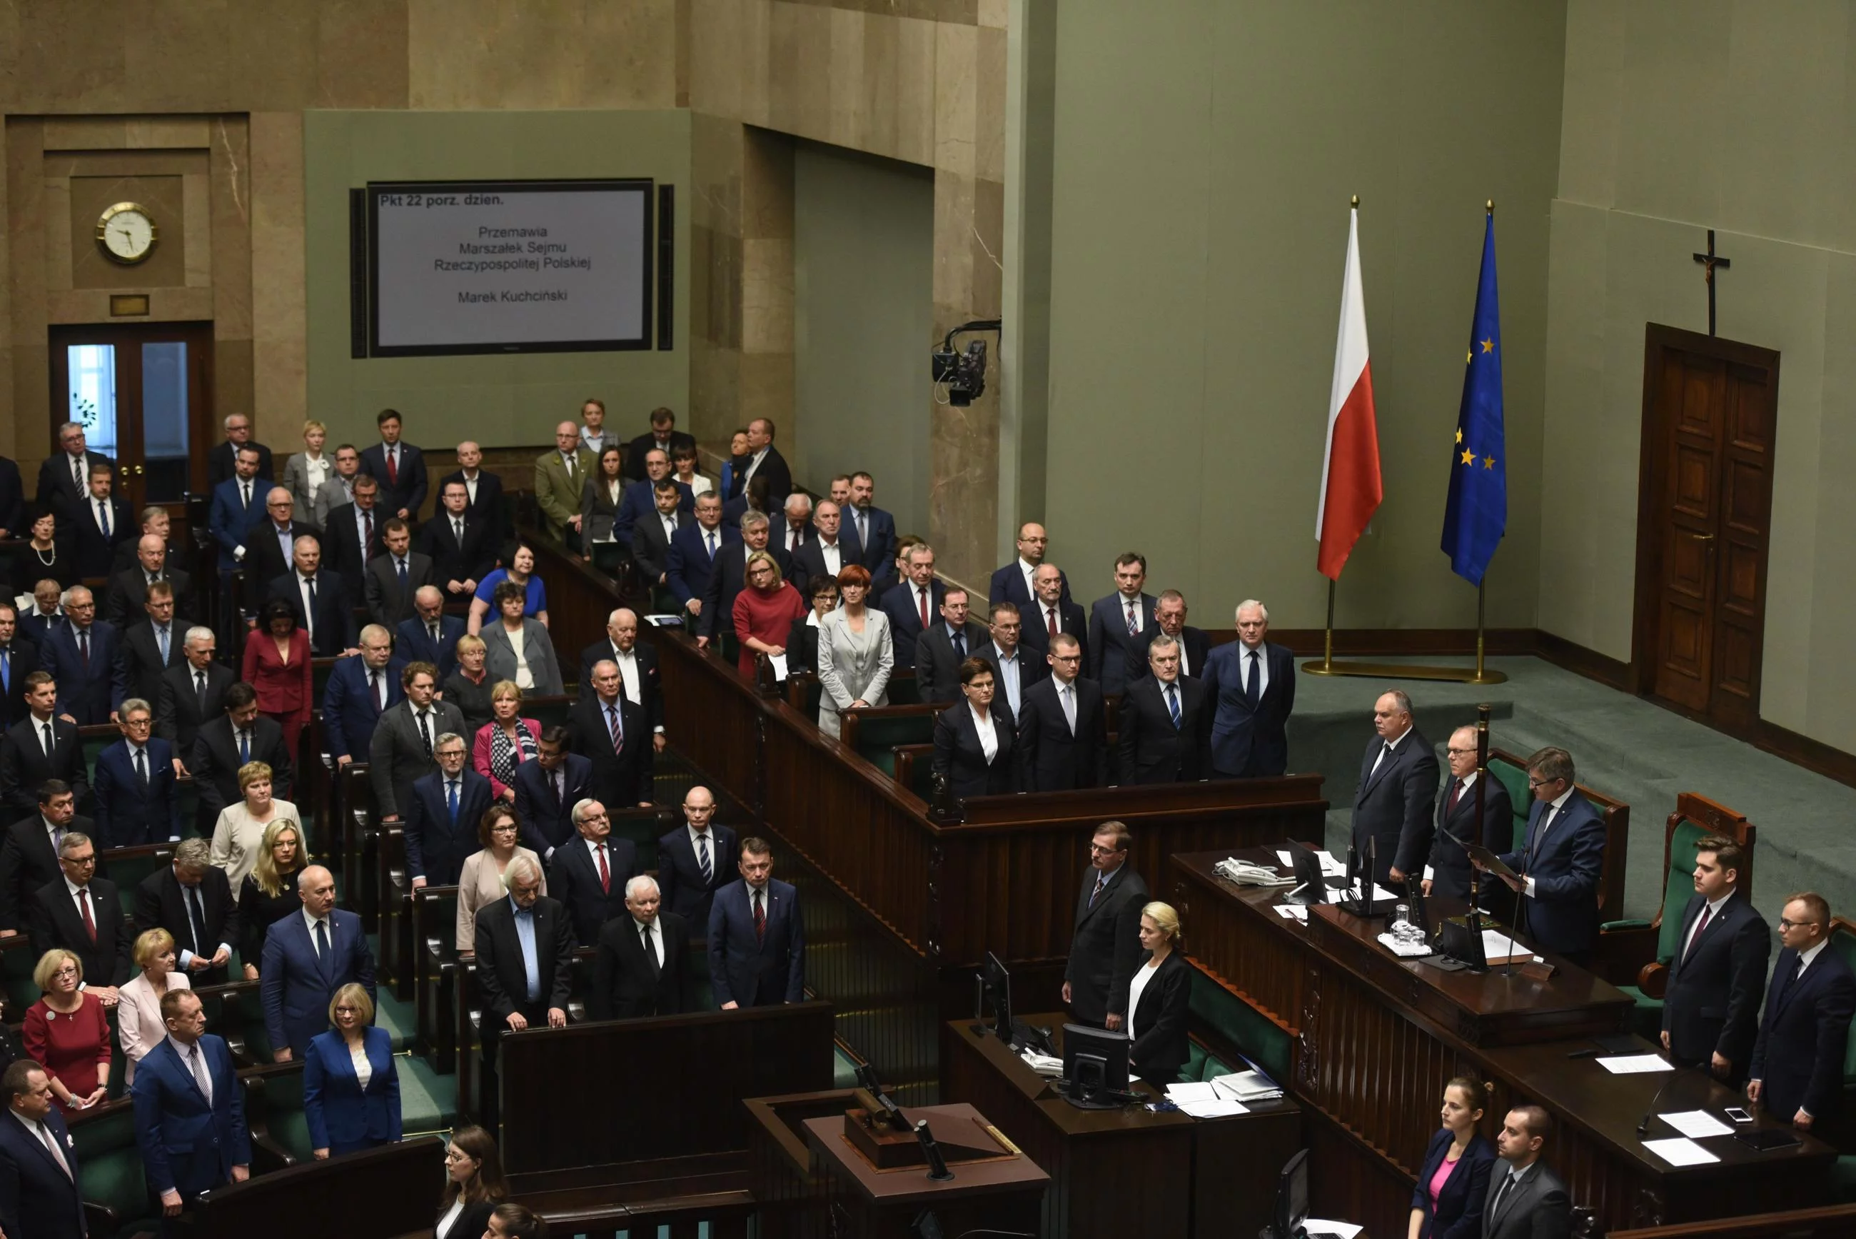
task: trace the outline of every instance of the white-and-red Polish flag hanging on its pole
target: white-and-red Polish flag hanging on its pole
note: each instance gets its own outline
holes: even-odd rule
[[[1327,453],[1321,457],[1321,505],[1314,513],[1320,542],[1314,567],[1340,580],[1353,544],[1373,518],[1385,487],[1379,481],[1379,425],[1373,422],[1373,370],[1366,357],[1366,293],[1360,288],[1360,210],[1347,223],[1347,275],[1340,290],[1340,342],[1334,346],[1334,390],[1327,398]]]

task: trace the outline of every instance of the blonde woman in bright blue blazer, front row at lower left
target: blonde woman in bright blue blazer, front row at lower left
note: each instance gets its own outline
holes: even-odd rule
[[[393,1038],[373,1027],[373,999],[343,985],[329,1001],[334,1027],[303,1055],[303,1116],[316,1157],[399,1141],[399,1070]]]

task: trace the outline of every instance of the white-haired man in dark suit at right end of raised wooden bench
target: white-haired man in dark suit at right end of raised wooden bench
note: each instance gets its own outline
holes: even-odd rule
[[[1214,702],[1212,773],[1218,778],[1273,776],[1288,769],[1295,658],[1284,646],[1264,641],[1268,632],[1264,604],[1255,598],[1244,602],[1238,606],[1238,639],[1212,650],[1199,672]],[[1435,760],[1431,773],[1437,773]]]

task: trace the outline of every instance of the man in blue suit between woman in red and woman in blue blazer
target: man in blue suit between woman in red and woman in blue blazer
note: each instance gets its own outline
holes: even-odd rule
[[[163,1217],[189,1200],[251,1178],[251,1129],[238,1068],[223,1037],[206,1031],[193,990],[161,996],[167,1037],[135,1064],[135,1144]]]

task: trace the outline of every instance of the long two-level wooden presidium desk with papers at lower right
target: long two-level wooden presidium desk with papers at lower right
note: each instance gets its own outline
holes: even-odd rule
[[[1594,1033],[1626,1025],[1631,1001],[1605,981],[1557,959],[1559,972],[1544,983],[1520,972],[1444,973],[1398,960],[1373,942],[1377,923],[1334,906],[1312,908],[1307,925],[1279,916],[1279,888],[1236,886],[1214,873],[1225,854],[1171,860],[1186,953],[1295,1038],[1286,1085],[1308,1113],[1323,1211],[1373,1233],[1403,1232],[1438,1100],[1459,1074],[1496,1085],[1483,1120],[1490,1139],[1511,1105],[1537,1102],[1553,1115],[1546,1159],[1574,1204],[1592,1206],[1605,1228],[1797,1207],[1823,1196],[1834,1152],[1813,1139],[1780,1154],[1724,1139],[1730,1148],[1709,1142],[1719,1165],[1682,1170],[1646,1152],[1637,1124],[1670,1076],[1611,1076],[1591,1059],[1566,1059],[1591,1048]],[[1264,849],[1236,854],[1277,864]],[[1672,1096],[1687,1102],[1672,1105]],[[1657,1109],[1702,1105],[1735,1105],[1735,1094],[1691,1076]]]

